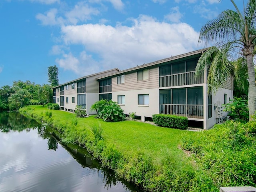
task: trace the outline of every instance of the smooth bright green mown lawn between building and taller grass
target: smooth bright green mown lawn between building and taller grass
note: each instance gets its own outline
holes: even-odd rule
[[[30,106],[35,108],[34,114],[40,116],[45,113],[47,107]],[[75,114],[58,111],[52,111],[52,119],[60,124],[71,124]],[[195,134],[188,130],[178,130],[172,128],[163,128],[154,126],[145,122],[127,120],[123,122],[104,122],[95,116],[87,118],[78,118],[78,129],[89,130],[93,124],[101,124],[104,129],[104,141],[108,144],[114,144],[116,148],[126,155],[133,154],[134,151],[143,151],[150,154],[156,160],[171,150],[183,155],[184,152],[179,148],[180,140],[185,134]]]

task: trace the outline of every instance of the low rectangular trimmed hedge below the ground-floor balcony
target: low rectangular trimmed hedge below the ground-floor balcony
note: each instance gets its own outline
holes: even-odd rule
[[[177,129],[188,128],[188,118],[176,115],[154,114],[153,122],[162,127],[170,127]]]

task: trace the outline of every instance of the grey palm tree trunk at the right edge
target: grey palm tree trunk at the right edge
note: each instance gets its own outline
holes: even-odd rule
[[[252,115],[256,112],[256,85],[255,85],[255,70],[253,64],[253,55],[246,56],[248,77],[249,77],[249,91],[248,91],[248,106],[249,106],[249,121],[252,120]]]

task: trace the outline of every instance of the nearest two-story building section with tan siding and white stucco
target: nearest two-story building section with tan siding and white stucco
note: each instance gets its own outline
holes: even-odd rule
[[[221,104],[233,96],[232,77],[216,94],[207,94],[207,70],[195,77],[198,59],[207,49],[158,60],[97,78],[100,98],[111,95],[125,114],[136,112],[144,121],[153,114],[186,116],[190,123],[208,129],[225,116]],[[110,85],[108,85],[110,86]],[[101,96],[102,95],[102,96]]]

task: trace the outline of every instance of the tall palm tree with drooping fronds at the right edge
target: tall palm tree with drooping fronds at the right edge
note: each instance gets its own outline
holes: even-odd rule
[[[244,69],[246,63],[248,74],[248,106],[249,116],[256,111],[256,84],[255,69],[253,57],[256,45],[256,0],[248,0],[244,7],[243,14],[231,0],[236,11],[225,10],[217,19],[208,21],[200,30],[198,43],[205,41],[205,44],[217,42],[207,52],[202,54],[196,67],[197,74],[199,70],[205,68],[209,70],[208,74],[208,93],[216,92],[225,83],[226,78],[235,75],[236,68]],[[239,58],[241,58],[239,60]],[[235,67],[232,60],[237,60]],[[246,76],[240,76],[242,82]]]

